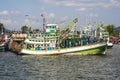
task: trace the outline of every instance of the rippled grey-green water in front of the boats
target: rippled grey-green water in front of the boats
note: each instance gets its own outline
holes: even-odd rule
[[[30,56],[0,53],[0,80],[120,80],[120,45],[107,55]]]

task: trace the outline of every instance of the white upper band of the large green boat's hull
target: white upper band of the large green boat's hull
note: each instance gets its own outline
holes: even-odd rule
[[[56,49],[56,50],[30,50],[30,49],[22,49],[21,54],[36,54],[36,55],[54,55],[54,54],[67,54],[73,53],[83,50],[89,50],[94,48],[99,48],[105,46],[106,43],[98,43],[94,45],[85,45],[85,46],[77,46],[72,48],[63,48],[63,49]]]

